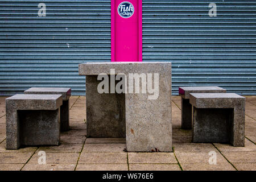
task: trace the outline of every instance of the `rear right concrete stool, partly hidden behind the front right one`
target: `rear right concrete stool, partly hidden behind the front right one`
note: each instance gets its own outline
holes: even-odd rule
[[[181,97],[181,128],[192,128],[192,106],[189,104],[190,93],[226,93],[226,89],[218,86],[183,86],[179,87]]]

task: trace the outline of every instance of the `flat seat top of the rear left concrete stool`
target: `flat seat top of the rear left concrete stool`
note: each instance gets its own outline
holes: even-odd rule
[[[71,88],[61,87],[31,87],[24,91],[24,94],[61,94],[63,101],[71,96]]]

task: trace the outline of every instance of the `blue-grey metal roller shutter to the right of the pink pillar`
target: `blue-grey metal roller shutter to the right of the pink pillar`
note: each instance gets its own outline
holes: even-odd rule
[[[143,0],[143,60],[172,61],[172,94],[208,85],[256,94],[255,35],[256,1]]]

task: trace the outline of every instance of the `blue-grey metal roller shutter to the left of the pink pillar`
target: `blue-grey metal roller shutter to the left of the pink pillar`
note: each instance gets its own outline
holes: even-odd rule
[[[38,16],[38,4],[46,16]],[[0,1],[0,94],[31,86],[85,94],[78,64],[110,61],[110,1]]]

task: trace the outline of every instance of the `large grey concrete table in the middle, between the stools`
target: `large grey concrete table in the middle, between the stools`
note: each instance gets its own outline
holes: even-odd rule
[[[100,74],[109,80],[109,93],[98,92]],[[85,63],[79,64],[79,75],[86,75],[88,137],[126,137],[127,151],[172,151],[170,62]],[[126,80],[127,92],[111,90],[119,86],[118,76]],[[151,81],[156,98],[148,89]]]

